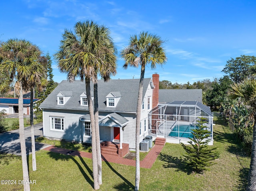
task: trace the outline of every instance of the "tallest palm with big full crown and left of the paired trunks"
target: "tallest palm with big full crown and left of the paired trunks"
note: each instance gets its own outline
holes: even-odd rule
[[[97,74],[104,73],[102,71],[103,65],[108,64],[108,59],[111,58],[110,55],[114,51],[106,49],[112,41],[110,41],[108,29],[104,26],[99,26],[92,21],[77,22],[74,31],[75,34],[72,31],[64,31],[63,39],[60,42],[60,50],[54,56],[58,61],[58,68],[61,72],[67,73],[70,81],[74,81],[76,77],[86,81],[86,95],[92,128],[94,189],[99,189],[101,183],[98,174],[101,174],[101,154],[98,155],[97,153],[100,153],[100,139],[98,127],[97,130],[95,128],[98,116],[96,116],[95,121],[90,82],[96,84]],[[97,98],[94,100],[95,102],[97,102]],[[96,107],[98,109],[98,106]]]

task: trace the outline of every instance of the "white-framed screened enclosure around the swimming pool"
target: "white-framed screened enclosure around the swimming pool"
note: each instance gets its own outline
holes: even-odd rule
[[[173,101],[158,104],[148,114],[149,133],[153,137],[166,138],[166,142],[186,144],[192,138],[192,129],[203,119],[203,126],[211,132],[209,145],[213,144],[213,115],[210,108],[197,101]]]

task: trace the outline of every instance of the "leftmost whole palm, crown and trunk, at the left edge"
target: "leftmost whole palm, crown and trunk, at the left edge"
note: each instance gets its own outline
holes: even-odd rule
[[[15,88],[18,91],[18,111],[19,111],[19,131],[20,131],[20,149],[22,156],[23,179],[28,182],[24,184],[24,190],[30,191],[28,164],[26,155],[26,143],[24,134],[23,118],[23,89],[27,91],[30,87],[30,75],[32,70],[38,65],[38,57],[34,57],[34,45],[24,39],[9,39],[1,43],[0,54],[2,61],[0,63],[0,72],[10,76],[11,81],[16,79]]]

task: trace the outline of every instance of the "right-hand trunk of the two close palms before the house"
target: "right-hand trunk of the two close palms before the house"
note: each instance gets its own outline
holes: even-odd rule
[[[96,149],[98,163],[98,179],[99,185],[102,185],[102,160],[100,151],[100,128],[99,128],[99,110],[98,110],[98,83],[94,83],[94,117],[95,117],[95,133],[96,133]]]

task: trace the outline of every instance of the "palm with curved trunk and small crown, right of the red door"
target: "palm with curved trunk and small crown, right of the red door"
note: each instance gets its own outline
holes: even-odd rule
[[[162,65],[166,62],[166,54],[162,47],[163,41],[159,36],[152,35],[148,32],[141,32],[140,35],[130,37],[128,47],[121,51],[121,57],[124,58],[124,68],[130,65],[132,67],[141,66],[140,84],[138,90],[138,102],[136,112],[136,175],[135,175],[135,191],[139,190],[140,185],[140,115],[142,104],[142,92],[145,67],[151,65],[152,69],[156,68],[156,64]]]

